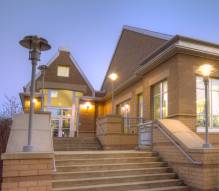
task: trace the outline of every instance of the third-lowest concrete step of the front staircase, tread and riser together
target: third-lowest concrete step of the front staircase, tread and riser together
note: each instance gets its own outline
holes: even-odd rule
[[[174,179],[175,173],[160,173],[160,174],[142,174],[142,175],[125,175],[114,177],[96,177],[95,173],[90,178],[76,178],[76,179],[62,179],[53,180],[53,188],[64,188],[80,185],[99,185],[99,184],[114,184],[125,182],[140,182],[140,181],[152,181],[162,179]]]

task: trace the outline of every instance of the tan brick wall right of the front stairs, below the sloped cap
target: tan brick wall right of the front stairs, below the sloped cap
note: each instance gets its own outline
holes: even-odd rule
[[[193,160],[201,162],[201,164],[193,164],[158,128],[153,129],[153,149],[168,162],[179,177],[191,187],[191,190],[215,191],[219,188],[218,150],[189,151]]]

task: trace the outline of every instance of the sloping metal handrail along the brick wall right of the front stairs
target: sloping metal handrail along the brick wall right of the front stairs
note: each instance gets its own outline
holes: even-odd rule
[[[165,131],[160,127],[159,124],[155,124],[153,121],[149,121],[149,122],[146,122],[146,123],[142,123],[142,124],[140,124],[139,126],[144,126],[144,125],[147,125],[147,126],[148,126],[148,125],[151,125],[151,127],[157,127],[157,128],[168,138],[168,140],[169,140],[171,143],[173,143],[173,144],[178,148],[178,150],[179,150],[191,163],[196,164],[196,165],[202,164],[202,162],[194,160],[194,159],[184,150],[184,148],[183,148],[181,145],[179,145],[171,136],[169,136],[169,135],[167,134],[167,132],[165,132]]]

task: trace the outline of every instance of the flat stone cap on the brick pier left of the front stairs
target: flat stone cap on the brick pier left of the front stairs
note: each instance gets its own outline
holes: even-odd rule
[[[16,159],[52,159],[53,152],[19,152],[19,153],[3,153],[2,160],[16,160]]]

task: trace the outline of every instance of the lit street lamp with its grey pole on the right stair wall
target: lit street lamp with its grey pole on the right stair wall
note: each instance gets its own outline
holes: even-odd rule
[[[203,76],[205,86],[205,143],[203,148],[211,148],[211,144],[208,143],[208,125],[209,125],[209,76],[213,71],[213,67],[210,64],[204,64],[199,67],[199,71]]]

